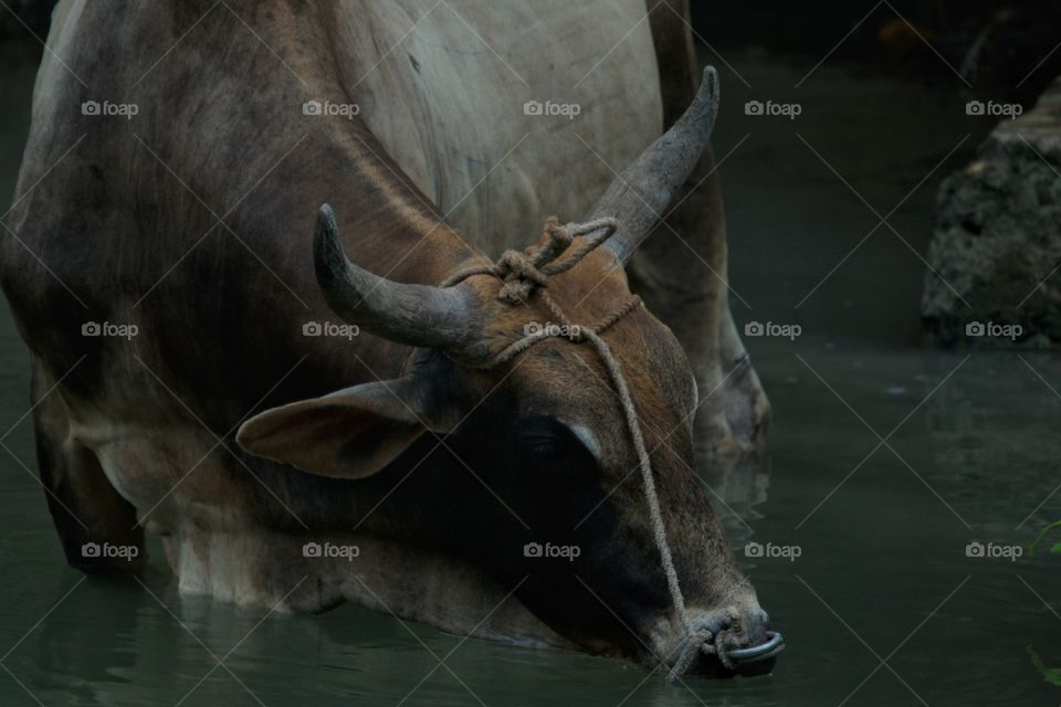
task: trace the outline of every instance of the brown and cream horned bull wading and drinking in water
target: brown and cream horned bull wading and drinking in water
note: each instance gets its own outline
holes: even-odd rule
[[[600,336],[684,615],[733,656],[691,667],[768,665],[693,472],[694,439],[739,454],[768,419],[726,297],[716,86],[694,101],[685,3],[647,10],[63,0],[2,284],[67,561],[129,567],[82,548],[146,529],[182,592],[673,664],[690,624],[607,362],[554,337],[477,366],[555,324],[542,291],[582,324],[635,291]],[[553,213],[618,231],[524,304],[439,286]]]

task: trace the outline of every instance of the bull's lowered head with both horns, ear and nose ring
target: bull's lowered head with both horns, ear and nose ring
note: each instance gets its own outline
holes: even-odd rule
[[[621,265],[687,179],[716,113],[717,78],[708,70],[685,115],[598,202],[590,218],[614,217],[618,232],[547,282],[548,299],[570,321],[597,323],[630,300]],[[417,473],[429,496],[458,500],[434,527],[427,527],[434,521],[427,508],[432,500],[424,500],[419,521],[426,532],[416,541],[518,585],[516,595],[530,612],[589,651],[673,664],[691,630],[724,632],[732,659],[705,651],[694,672],[761,672],[769,665],[777,636],[768,633],[767,616],[693,472],[696,383],[666,326],[638,306],[601,335],[628,386],[637,413],[632,425],[651,460],[661,511],[655,515],[613,370],[598,350],[553,337],[483,368],[522,339],[528,323],[560,324],[548,302],[533,294],[524,304],[501,300],[494,276],[449,287],[378,277],[347,260],[327,207],[314,247],[317,281],[332,308],[412,352],[398,379],[253,418],[239,434],[244,449],[314,474],[364,478],[430,454],[433,445],[419,443],[440,435],[448,449],[435,450]],[[654,532],[660,524],[684,616],[675,611],[664,572]],[[578,550],[534,557],[545,544]]]

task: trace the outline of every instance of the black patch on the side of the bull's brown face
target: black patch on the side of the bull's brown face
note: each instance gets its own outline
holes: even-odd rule
[[[474,499],[473,509],[459,500],[449,520],[458,551],[518,585],[518,599],[561,635],[634,654],[634,636],[611,612],[641,625],[665,610],[665,588],[627,552],[597,460],[556,419],[495,403],[448,440],[460,457],[450,492]]]

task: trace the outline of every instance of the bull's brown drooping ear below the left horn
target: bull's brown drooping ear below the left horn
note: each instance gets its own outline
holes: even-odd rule
[[[304,472],[364,478],[427,432],[420,399],[409,378],[365,383],[266,410],[244,422],[235,440],[251,454]]]

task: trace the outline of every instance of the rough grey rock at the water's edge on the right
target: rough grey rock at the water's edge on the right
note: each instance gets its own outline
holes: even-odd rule
[[[1061,77],[939,189],[922,323],[938,342],[1061,344]]]

